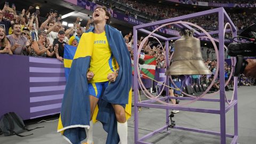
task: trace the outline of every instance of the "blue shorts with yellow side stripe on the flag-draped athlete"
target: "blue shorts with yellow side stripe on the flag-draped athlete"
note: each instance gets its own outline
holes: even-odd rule
[[[108,84],[109,82],[89,83],[89,94],[99,99],[102,91],[108,87]]]

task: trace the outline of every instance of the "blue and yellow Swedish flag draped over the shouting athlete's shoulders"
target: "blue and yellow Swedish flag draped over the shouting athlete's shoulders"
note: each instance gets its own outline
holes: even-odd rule
[[[106,143],[116,144],[119,142],[119,136],[115,111],[111,103],[125,107],[126,119],[131,117],[132,65],[120,31],[109,25],[105,26],[105,31],[111,52],[118,63],[119,73],[116,81],[109,84],[98,102],[97,120],[102,123],[103,129],[108,133]],[[86,138],[84,128],[90,126],[90,101],[86,74],[90,67],[93,42],[94,28],[91,28],[82,35],[78,44],[62,100],[58,132],[70,143],[81,143]]]

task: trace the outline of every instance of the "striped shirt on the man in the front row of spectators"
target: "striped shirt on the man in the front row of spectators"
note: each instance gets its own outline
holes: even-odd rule
[[[13,54],[21,55],[22,49],[26,49],[26,43],[27,43],[28,39],[25,36],[20,36],[17,39],[15,39],[12,35],[7,35],[6,37],[11,42],[11,46],[13,46],[15,43],[20,45],[19,47],[17,47],[14,50]]]

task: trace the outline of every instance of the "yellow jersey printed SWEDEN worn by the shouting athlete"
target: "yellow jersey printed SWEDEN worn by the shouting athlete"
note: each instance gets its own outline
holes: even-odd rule
[[[89,71],[94,74],[89,83],[108,81],[107,76],[116,70],[116,60],[110,50],[105,31],[94,34],[93,51]]]

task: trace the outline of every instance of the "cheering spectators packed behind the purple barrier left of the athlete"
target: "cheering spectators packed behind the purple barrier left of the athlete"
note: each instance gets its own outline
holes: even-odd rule
[[[29,6],[21,13],[12,4],[0,9],[0,53],[30,55],[33,57],[57,58],[63,61],[65,44],[77,46],[83,34],[79,25],[80,18],[74,26],[65,28],[61,25],[61,14],[50,10],[44,22],[39,21],[39,9]],[[92,21],[87,22],[87,29]]]

